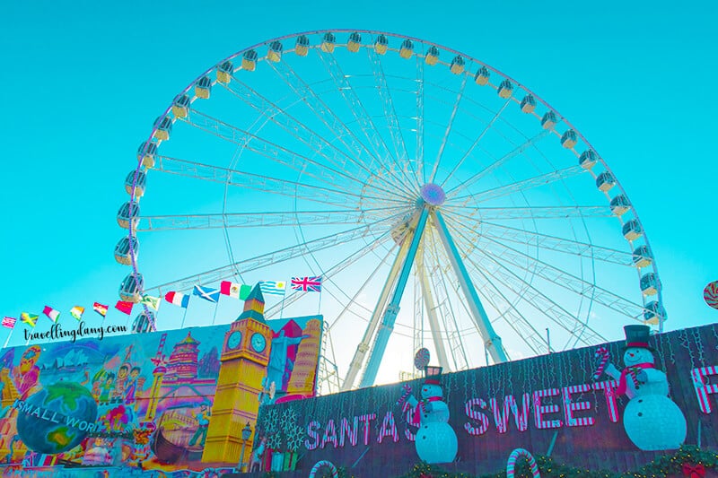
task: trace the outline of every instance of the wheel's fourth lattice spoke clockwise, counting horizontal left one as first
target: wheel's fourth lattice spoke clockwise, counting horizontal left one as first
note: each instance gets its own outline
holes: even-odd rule
[[[301,121],[291,116],[284,109],[281,109],[274,102],[267,100],[267,98],[262,96],[258,91],[252,89],[246,83],[242,83],[237,80],[235,76],[232,75],[232,82],[221,84],[227,91],[230,91],[234,96],[258,111],[260,115],[267,117],[267,119],[275,123],[276,126],[280,126],[285,130],[285,132],[293,135],[293,137],[301,143],[304,143],[311,149],[312,152],[315,152],[323,157],[329,164],[336,168],[332,169],[333,171],[347,170],[350,164],[358,166],[357,162],[350,155],[346,154],[346,152],[338,149],[337,146],[329,142],[326,138],[324,138],[324,136],[312,131]],[[328,154],[326,151],[334,152],[334,154]],[[317,165],[317,162],[313,162],[313,164]],[[361,165],[360,169],[363,169],[367,174],[363,180],[369,178],[369,175],[371,174],[370,171],[368,171],[363,165]],[[390,195],[396,195],[393,188],[382,187],[380,190]]]

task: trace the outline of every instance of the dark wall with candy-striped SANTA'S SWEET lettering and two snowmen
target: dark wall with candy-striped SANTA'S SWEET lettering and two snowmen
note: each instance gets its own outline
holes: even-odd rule
[[[293,455],[296,476],[322,460],[355,476],[400,476],[420,459],[497,473],[515,448],[614,471],[681,444],[718,451],[718,326],[647,344],[635,363],[621,341],[262,407],[258,438],[270,451],[255,469],[282,461],[274,448],[285,465]]]

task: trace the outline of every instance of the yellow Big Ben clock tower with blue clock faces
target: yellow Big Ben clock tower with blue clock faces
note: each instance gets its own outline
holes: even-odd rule
[[[244,311],[224,334],[215,403],[202,454],[203,462],[236,465],[240,462],[241,429],[257,422],[258,395],[267,374],[272,329],[264,318],[259,286],[244,301]],[[252,449],[251,440],[245,450]],[[246,457],[244,457],[244,461]]]

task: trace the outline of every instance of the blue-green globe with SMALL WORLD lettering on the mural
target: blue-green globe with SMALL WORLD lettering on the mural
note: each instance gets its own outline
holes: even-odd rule
[[[55,455],[76,447],[97,420],[97,404],[87,388],[57,382],[31,395],[17,417],[17,432],[28,448]]]

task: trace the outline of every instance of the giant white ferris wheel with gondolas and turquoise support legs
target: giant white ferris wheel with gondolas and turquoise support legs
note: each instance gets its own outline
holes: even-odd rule
[[[243,49],[180,91],[125,185],[120,296],[321,277],[320,304],[290,290],[266,316],[320,310],[325,387],[396,381],[423,347],[459,370],[666,318],[607,161],[526,86],[421,39]]]

